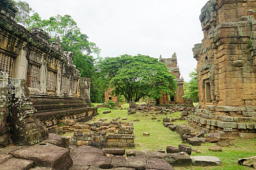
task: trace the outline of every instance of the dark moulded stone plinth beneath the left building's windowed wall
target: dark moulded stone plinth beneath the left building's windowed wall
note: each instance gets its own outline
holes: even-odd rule
[[[76,97],[59,97],[54,95],[32,95],[31,102],[37,109],[34,116],[42,121],[49,132],[58,130],[59,120],[72,119],[85,122],[98,115],[96,107],[90,107],[89,100]]]

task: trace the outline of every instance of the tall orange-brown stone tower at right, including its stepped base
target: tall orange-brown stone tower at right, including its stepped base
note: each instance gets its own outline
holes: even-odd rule
[[[222,136],[256,136],[256,1],[210,0],[193,48],[199,105],[189,124]]]

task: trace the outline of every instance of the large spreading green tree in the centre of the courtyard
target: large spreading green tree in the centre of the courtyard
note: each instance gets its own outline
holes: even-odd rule
[[[138,102],[148,96],[159,98],[161,93],[174,94],[177,84],[166,65],[146,55],[107,57],[98,65],[99,78],[116,95]]]

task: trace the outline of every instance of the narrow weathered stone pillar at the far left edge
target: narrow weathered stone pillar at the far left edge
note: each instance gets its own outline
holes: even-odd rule
[[[8,99],[7,99],[8,74],[0,72],[0,148],[10,144],[9,127],[7,126]]]

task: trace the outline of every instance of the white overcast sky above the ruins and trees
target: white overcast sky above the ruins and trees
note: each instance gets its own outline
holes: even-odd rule
[[[177,52],[181,75],[197,66],[192,48],[203,38],[199,15],[208,0],[24,0],[42,19],[70,15],[101,57]]]

